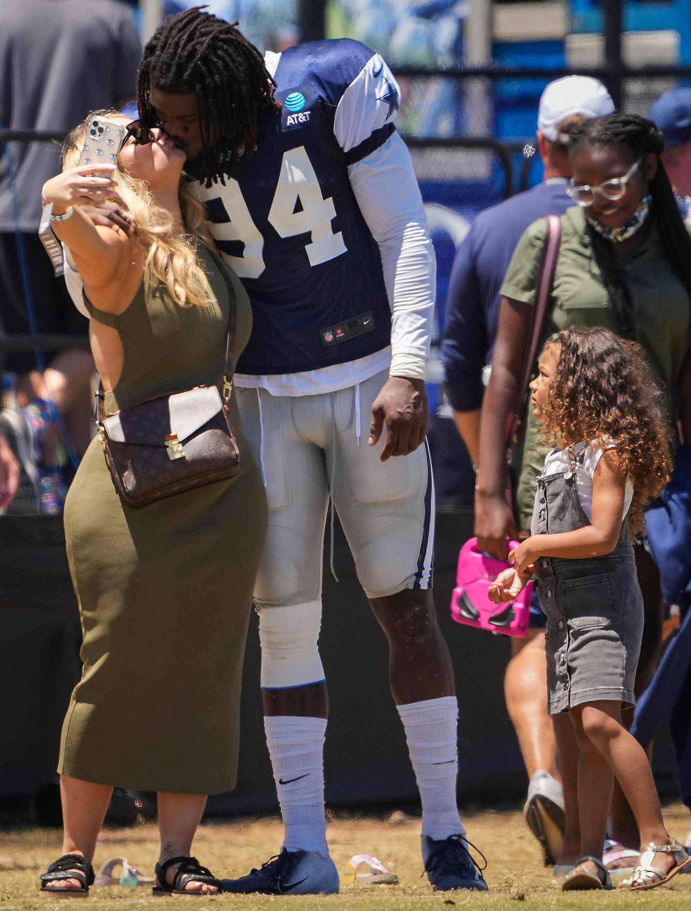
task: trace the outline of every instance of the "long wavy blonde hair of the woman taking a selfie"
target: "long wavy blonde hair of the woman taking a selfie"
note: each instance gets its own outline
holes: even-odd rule
[[[92,111],[66,137],[62,148],[63,170],[76,168],[91,118],[121,117],[116,110]],[[205,306],[213,296],[207,273],[197,255],[198,240],[210,241],[204,207],[180,181],[178,199],[185,233],[175,230],[173,216],[154,201],[147,184],[128,174],[117,163],[117,201],[134,215],[135,233],[147,248],[145,274],[154,276],[181,307]]]

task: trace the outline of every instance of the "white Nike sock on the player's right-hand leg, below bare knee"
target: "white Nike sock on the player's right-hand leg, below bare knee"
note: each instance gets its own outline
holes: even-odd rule
[[[398,705],[422,802],[422,844],[465,834],[456,805],[458,701],[442,696]]]

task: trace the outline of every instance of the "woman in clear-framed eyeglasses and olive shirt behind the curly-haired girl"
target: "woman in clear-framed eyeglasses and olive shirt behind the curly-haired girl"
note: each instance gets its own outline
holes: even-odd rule
[[[686,357],[691,330],[691,238],[660,160],[664,147],[662,133],[636,115],[615,112],[585,121],[574,130],[569,195],[575,205],[562,216],[554,306],[544,337],[571,326],[604,326],[635,339],[659,384],[670,424],[674,427],[678,419],[684,439],[691,442],[691,359]],[[492,377],[483,403],[475,532],[480,547],[499,558],[506,558],[507,538],[530,528],[534,486],[544,464],[545,450],[528,410],[523,415],[522,451],[513,466],[514,518],[505,497],[507,422],[524,393],[519,384],[544,233],[544,220],[534,222],[513,254],[503,283]],[[652,560],[644,548],[635,549],[645,599],[644,644],[636,678],[640,693],[655,670],[663,614]],[[559,738],[558,728],[555,725]],[[566,758],[562,756],[563,765]],[[567,786],[568,769],[562,771],[568,823],[577,814],[574,804],[568,805],[568,792],[574,797]],[[620,823],[620,831],[612,837],[633,848],[637,834],[631,822],[628,827]],[[576,853],[574,832],[567,831],[560,862],[573,863]]]

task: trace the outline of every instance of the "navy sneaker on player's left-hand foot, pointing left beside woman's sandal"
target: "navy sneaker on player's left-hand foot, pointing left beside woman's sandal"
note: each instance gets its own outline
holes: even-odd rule
[[[288,851],[271,857],[261,869],[239,879],[222,879],[224,892],[262,896],[331,896],[339,891],[339,875],[330,857],[310,851]]]

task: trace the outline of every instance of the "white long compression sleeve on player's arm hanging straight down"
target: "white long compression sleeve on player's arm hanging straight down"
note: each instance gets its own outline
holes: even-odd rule
[[[391,305],[391,375],[425,379],[432,338],[436,260],[411,157],[398,135],[348,169],[364,220],[379,244]]]

